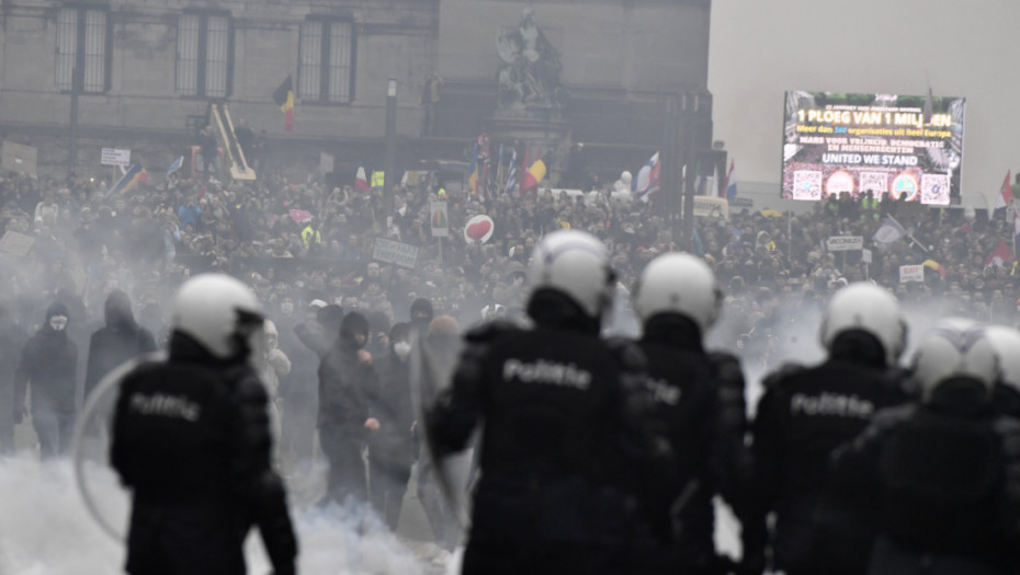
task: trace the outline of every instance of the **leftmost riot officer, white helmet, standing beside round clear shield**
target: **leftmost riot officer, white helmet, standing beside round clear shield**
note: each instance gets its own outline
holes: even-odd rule
[[[295,572],[286,495],[270,467],[267,391],[248,365],[262,325],[243,284],[196,276],[173,299],[169,358],[125,376],[110,458],[133,493],[132,575],[243,574],[252,526],[274,572]]]

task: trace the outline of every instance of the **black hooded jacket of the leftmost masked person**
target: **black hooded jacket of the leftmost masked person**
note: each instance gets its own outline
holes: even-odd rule
[[[64,303],[55,302],[46,310],[46,321],[25,343],[21,363],[14,372],[14,405],[24,405],[25,390],[32,382],[32,410],[75,411],[75,367],[78,346],[67,336],[67,327],[55,331],[49,325],[54,315],[68,315]]]

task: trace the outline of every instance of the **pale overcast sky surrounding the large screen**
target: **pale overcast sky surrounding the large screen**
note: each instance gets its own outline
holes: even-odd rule
[[[966,97],[963,202],[1020,169],[1020,0],[713,0],[709,89],[736,179],[779,185],[783,93]]]

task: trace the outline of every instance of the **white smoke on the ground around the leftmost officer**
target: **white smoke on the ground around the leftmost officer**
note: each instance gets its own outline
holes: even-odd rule
[[[120,487],[103,479],[104,473],[89,474],[101,507],[116,507],[124,499]],[[105,475],[112,478],[111,473]],[[39,462],[29,451],[0,459],[0,573],[123,572],[125,548],[89,516],[75,487],[70,461]],[[292,508],[292,517],[301,545],[302,574],[439,575],[460,571],[458,554],[449,560],[429,542],[393,534],[364,508]],[[247,541],[246,555],[249,573],[270,573],[269,559],[254,532]]]

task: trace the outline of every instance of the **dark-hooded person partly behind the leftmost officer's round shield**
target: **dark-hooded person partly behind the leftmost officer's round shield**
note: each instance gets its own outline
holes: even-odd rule
[[[139,355],[156,350],[156,338],[149,330],[135,321],[127,294],[120,289],[111,291],[106,296],[103,315],[106,325],[93,332],[89,338],[86,398],[114,368]]]

